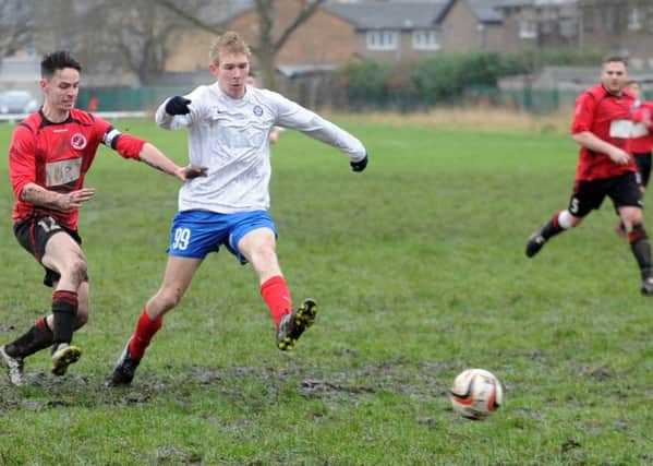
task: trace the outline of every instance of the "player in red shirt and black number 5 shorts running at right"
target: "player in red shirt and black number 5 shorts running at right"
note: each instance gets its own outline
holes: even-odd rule
[[[531,235],[525,253],[532,258],[548,239],[579,225],[607,195],[626,227],[640,267],[641,291],[653,295],[651,243],[644,229],[637,165],[629,147],[634,97],[624,91],[627,82],[626,61],[610,57],[603,62],[601,84],[578,97],[571,132],[581,147],[569,206]]]

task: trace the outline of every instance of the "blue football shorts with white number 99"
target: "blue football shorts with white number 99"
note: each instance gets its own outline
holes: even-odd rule
[[[266,211],[237,214],[178,212],[172,220],[168,254],[205,259],[209,252],[218,252],[223,244],[241,264],[246,264],[247,260],[238,250],[238,243],[246,234],[258,228],[268,228],[277,235],[275,223]]]

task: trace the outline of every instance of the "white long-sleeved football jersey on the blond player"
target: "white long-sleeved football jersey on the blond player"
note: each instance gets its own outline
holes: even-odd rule
[[[221,214],[269,207],[269,133],[275,126],[295,129],[347,154],[365,157],[356,138],[278,93],[246,86],[234,99],[218,83],[203,85],[184,96],[189,115],[166,113],[164,101],[156,122],[168,130],[189,129],[191,164],[208,167],[207,176],[186,181],[179,191],[179,210]]]

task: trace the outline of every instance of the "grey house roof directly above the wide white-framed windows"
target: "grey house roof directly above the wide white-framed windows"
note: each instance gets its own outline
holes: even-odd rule
[[[324,3],[322,9],[348,20],[356,29],[415,29],[436,25],[449,1]]]

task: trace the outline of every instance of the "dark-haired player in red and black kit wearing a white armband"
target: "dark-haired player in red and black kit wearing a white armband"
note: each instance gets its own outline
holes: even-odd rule
[[[81,356],[72,345],[73,331],[88,319],[88,275],[78,210],[95,190],[84,188],[98,145],[124,158],[142,160],[179,178],[202,176],[202,167],[178,167],[153,144],[122,134],[107,121],[74,108],[80,88],[80,63],[65,51],[41,61],[43,107],[19,123],[9,150],[9,170],[16,203],[15,236],[44,266],[44,283],[55,289],[52,314],[36,321],[13,343],[0,347],[10,381],[23,384],[23,360],[52,348],[52,373],[63,375]]]

